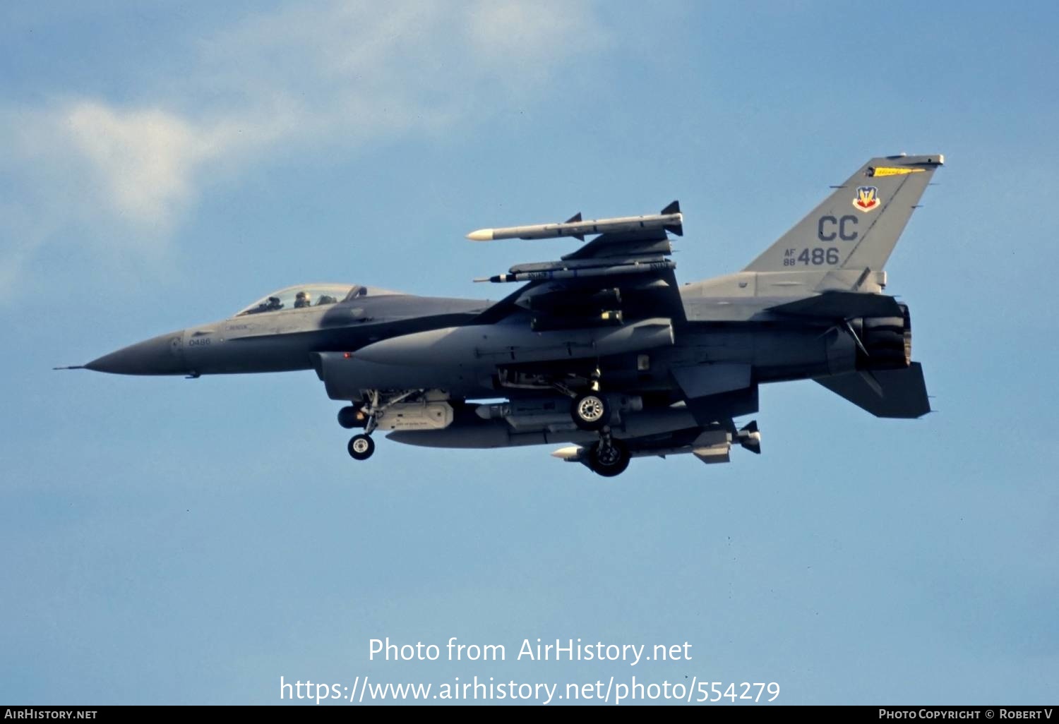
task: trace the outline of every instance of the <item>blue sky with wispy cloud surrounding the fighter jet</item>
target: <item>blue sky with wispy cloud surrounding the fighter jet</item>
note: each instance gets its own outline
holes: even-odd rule
[[[1051,3],[51,3],[0,11],[0,701],[279,681],[777,682],[782,703],[1046,703],[1059,670]],[[735,271],[873,156],[944,152],[887,266],[936,413],[762,388],[764,454],[382,441],[309,373],[55,373],[303,282],[498,297],[652,213]],[[369,660],[371,638],[503,644]],[[523,638],[689,662],[516,662]]]

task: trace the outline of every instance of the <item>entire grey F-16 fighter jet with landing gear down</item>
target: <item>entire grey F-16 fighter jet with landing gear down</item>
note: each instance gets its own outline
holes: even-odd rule
[[[604,476],[633,457],[760,453],[758,387],[811,379],[878,417],[930,412],[909,307],[884,266],[941,155],[875,158],[742,271],[680,286],[660,214],[482,229],[474,241],[569,237],[555,261],[477,279],[499,302],[343,284],[272,292],[234,315],[75,368],[123,375],[315,369],[346,402],[347,445],[373,433],[434,448],[566,444],[553,455]],[[585,242],[587,237],[591,240]]]

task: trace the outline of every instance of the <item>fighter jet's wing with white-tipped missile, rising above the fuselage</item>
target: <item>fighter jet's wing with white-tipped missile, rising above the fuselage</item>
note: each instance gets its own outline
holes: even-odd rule
[[[506,274],[475,279],[493,284],[525,283],[482,312],[471,324],[493,324],[526,315],[534,329],[621,325],[666,316],[684,319],[684,306],[669,258],[668,232],[683,234],[680,204],[661,214],[582,221],[580,214],[561,224],[487,229],[474,239],[546,238],[598,233],[580,249],[556,261],[521,264]]]

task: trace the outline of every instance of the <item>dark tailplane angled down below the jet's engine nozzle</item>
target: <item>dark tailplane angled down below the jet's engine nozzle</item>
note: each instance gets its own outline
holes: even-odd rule
[[[816,382],[876,417],[912,419],[930,412],[923,368],[918,362],[904,369],[879,369],[870,375],[872,381],[854,372],[820,377]]]

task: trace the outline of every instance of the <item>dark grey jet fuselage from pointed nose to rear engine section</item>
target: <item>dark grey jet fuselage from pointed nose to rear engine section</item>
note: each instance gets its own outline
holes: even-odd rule
[[[740,365],[748,368],[748,382],[764,383],[855,367],[850,338],[772,314],[772,303],[688,298],[686,319],[652,338],[659,341],[633,338],[628,346],[635,351],[615,347],[608,352],[600,342],[606,329],[589,336],[577,329],[533,332],[518,316],[478,325],[491,302],[387,293],[327,306],[244,311],[124,347],[86,367],[191,377],[315,368],[328,395],[340,400],[358,399],[359,391],[371,388],[444,390],[463,399],[497,397],[498,392],[539,396],[533,385],[517,382],[501,390],[498,365],[517,376],[534,366],[535,350],[546,357],[560,348],[576,358],[578,345],[586,349],[581,362],[598,365],[612,384],[657,393],[660,399],[674,390],[674,369]]]

